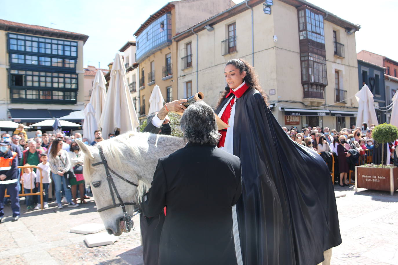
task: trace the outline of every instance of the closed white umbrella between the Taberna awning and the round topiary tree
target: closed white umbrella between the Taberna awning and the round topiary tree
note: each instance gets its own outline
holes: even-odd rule
[[[369,127],[370,124],[378,125],[375,106],[373,106],[373,94],[369,87],[364,85],[361,90],[355,94],[355,98],[359,104],[355,127],[361,127],[363,122],[369,125]]]

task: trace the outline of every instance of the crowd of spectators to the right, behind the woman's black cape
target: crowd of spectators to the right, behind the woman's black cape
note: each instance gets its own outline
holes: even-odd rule
[[[319,153],[330,169],[334,161],[334,172],[335,176],[339,176],[339,185],[346,186],[349,185],[347,176],[350,170],[354,170],[355,165],[372,162],[374,127],[374,124],[368,127],[366,123],[363,123],[361,127],[342,128],[339,132],[335,129],[330,130],[328,127],[320,128],[320,126],[309,126],[301,130],[294,127],[290,130],[286,127],[282,129],[293,141]],[[391,162],[396,145],[398,145],[398,140],[389,143]]]

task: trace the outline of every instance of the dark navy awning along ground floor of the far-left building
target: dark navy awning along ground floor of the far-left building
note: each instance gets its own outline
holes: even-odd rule
[[[10,108],[11,120],[14,122],[40,122],[51,118],[60,118],[74,110],[48,110],[48,109],[23,109]]]

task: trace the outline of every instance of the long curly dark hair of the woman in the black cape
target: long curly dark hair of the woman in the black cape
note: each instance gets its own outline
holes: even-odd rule
[[[227,66],[228,64],[232,64],[233,66],[238,68],[239,72],[241,74],[242,74],[243,71],[246,71],[246,76],[244,77],[244,81],[249,85],[249,87],[258,90],[261,93],[261,95],[263,96],[265,104],[268,105],[267,95],[265,94],[265,92],[263,91],[261,86],[259,85],[258,76],[257,76],[256,72],[254,71],[254,67],[251,66],[248,62],[246,62],[245,60],[242,60],[242,59],[229,60],[225,64],[225,66]],[[230,88],[227,85],[225,87],[225,92],[221,95],[221,97],[219,99],[219,102],[217,103],[217,107],[220,106],[222,100],[229,93],[229,90],[230,90]]]

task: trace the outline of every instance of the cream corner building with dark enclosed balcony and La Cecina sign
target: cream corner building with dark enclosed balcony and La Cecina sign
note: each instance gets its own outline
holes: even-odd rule
[[[242,2],[174,36],[178,97],[202,91],[215,107],[225,63],[241,58],[254,65],[281,126],[348,127],[357,111],[359,28],[304,1]]]

